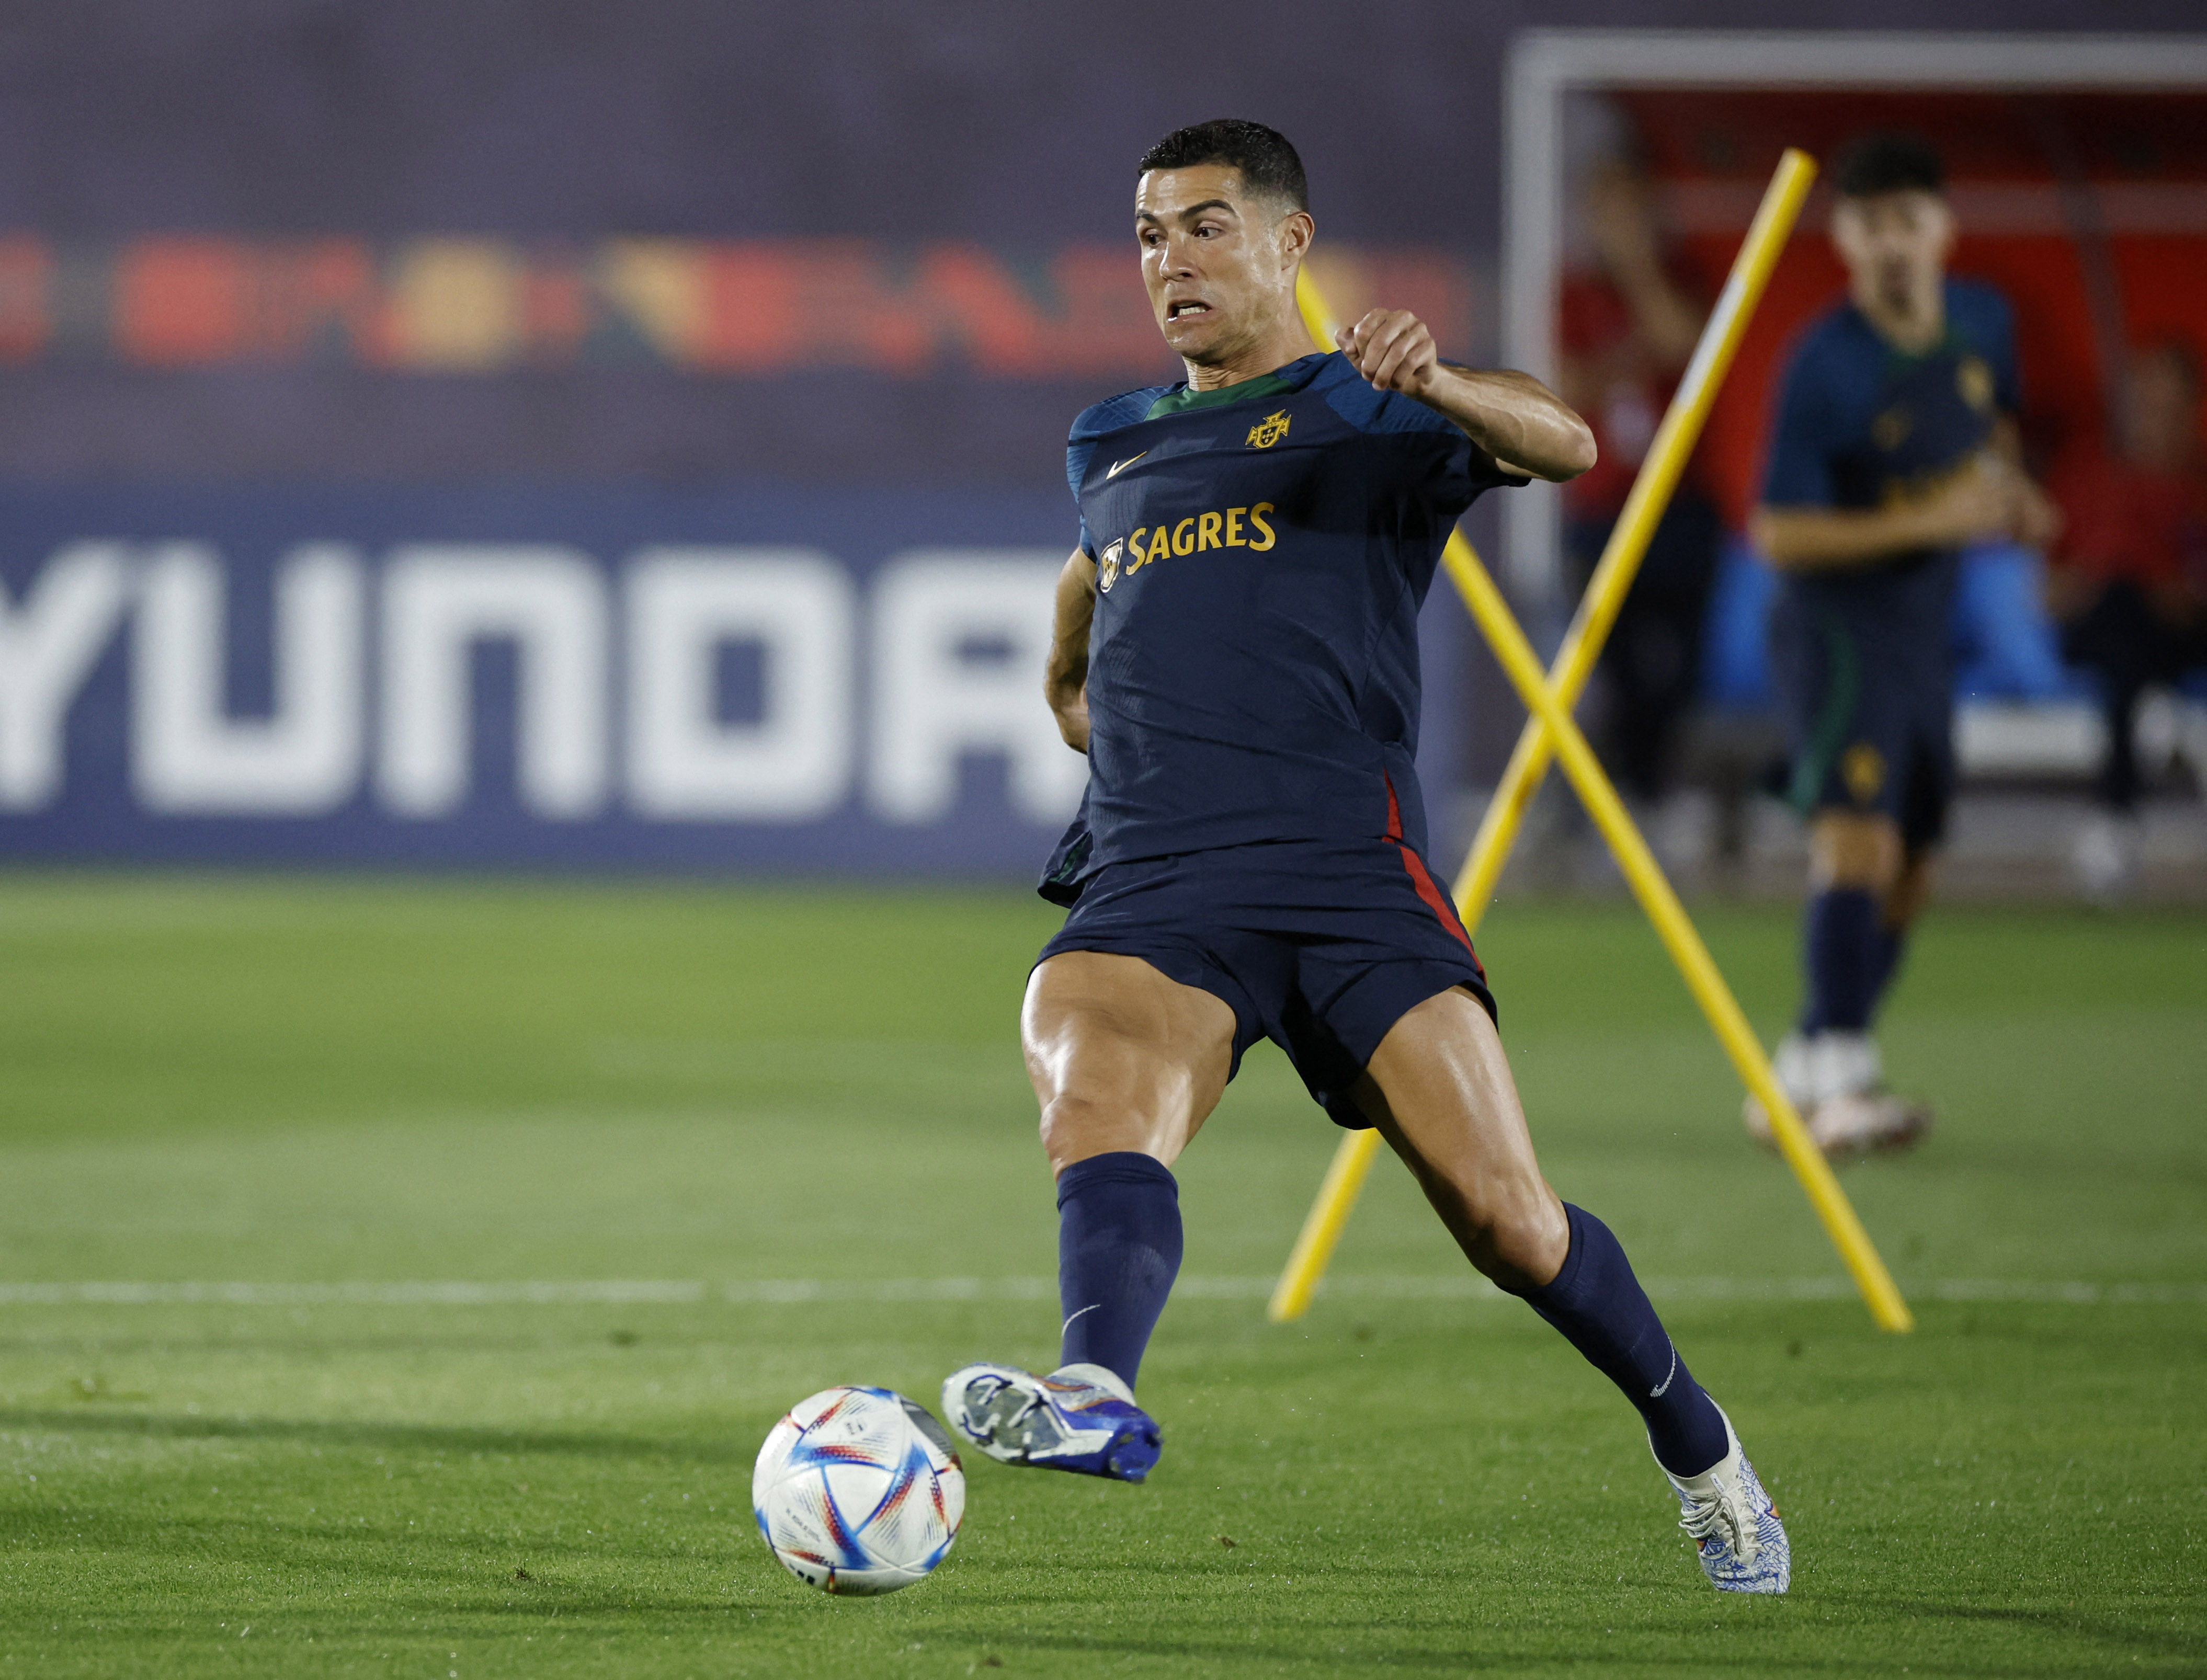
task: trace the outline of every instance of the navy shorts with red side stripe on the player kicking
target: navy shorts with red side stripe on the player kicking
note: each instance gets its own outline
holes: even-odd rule
[[[1042,947],[1139,956],[1234,1011],[1234,1064],[1269,1038],[1337,1126],[1410,1009],[1465,987],[1494,1013],[1485,969],[1426,861],[1397,839],[1276,841],[1106,863]]]

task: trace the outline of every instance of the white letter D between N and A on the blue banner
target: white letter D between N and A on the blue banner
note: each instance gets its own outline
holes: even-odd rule
[[[850,793],[852,589],[799,547],[651,547],[627,567],[629,804],[644,817],[823,817]],[[759,645],[757,722],[715,715],[715,662]]]

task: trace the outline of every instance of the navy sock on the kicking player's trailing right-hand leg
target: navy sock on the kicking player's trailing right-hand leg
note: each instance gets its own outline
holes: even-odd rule
[[[1702,1475],[1726,1453],[1717,1402],[1671,1347],[1609,1225],[1571,1203],[1563,1212],[1571,1219],[1571,1252],[1554,1283],[1525,1291],[1525,1305],[1640,1408],[1664,1470]]]

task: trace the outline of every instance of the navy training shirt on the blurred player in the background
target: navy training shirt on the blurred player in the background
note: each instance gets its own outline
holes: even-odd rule
[[[1975,280],[1944,283],[1947,333],[1922,355],[1898,351],[1852,302],[1803,333],[1779,395],[1763,503],[1883,508],[1936,486],[1984,448],[2017,408],[2015,316]],[[1896,565],[1933,559],[1896,554]],[[1819,574],[1874,583],[1885,567]]]

